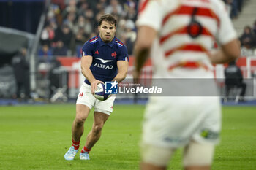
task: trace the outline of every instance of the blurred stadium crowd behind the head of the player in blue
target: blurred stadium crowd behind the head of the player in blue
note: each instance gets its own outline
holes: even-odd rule
[[[39,59],[50,61],[54,55],[80,57],[82,45],[99,33],[98,21],[105,13],[117,18],[116,35],[131,55],[136,39],[137,9],[135,0],[53,0],[41,34]]]

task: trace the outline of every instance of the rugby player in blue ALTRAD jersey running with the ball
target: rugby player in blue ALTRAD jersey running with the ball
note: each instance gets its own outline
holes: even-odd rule
[[[99,35],[89,39],[82,48],[81,69],[86,80],[78,94],[76,116],[72,124],[72,146],[64,155],[66,160],[75,158],[84,122],[94,107],[94,123],[80,152],[81,160],[89,160],[89,152],[99,140],[103,125],[113,111],[115,100],[115,96],[110,96],[105,101],[99,101],[94,97],[94,90],[101,82],[121,82],[128,71],[127,47],[115,36],[116,19],[112,15],[102,15],[98,29]]]

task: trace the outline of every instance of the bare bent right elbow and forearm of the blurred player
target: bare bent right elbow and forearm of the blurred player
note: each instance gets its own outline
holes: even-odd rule
[[[225,45],[222,45],[219,50],[211,53],[211,63],[227,63],[236,60],[240,56],[240,44],[238,39],[233,39]]]

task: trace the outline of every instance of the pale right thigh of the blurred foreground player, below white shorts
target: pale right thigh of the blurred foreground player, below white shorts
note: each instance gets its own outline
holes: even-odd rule
[[[184,148],[184,167],[211,166],[214,156],[214,144],[190,142]]]

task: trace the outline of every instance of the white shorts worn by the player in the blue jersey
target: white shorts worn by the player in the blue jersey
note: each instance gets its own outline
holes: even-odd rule
[[[80,87],[78,99],[76,104],[83,104],[89,107],[90,109],[94,107],[94,112],[103,112],[107,115],[110,115],[113,112],[113,104],[116,96],[110,96],[105,101],[99,101],[91,93],[91,85],[87,85],[85,82]]]

